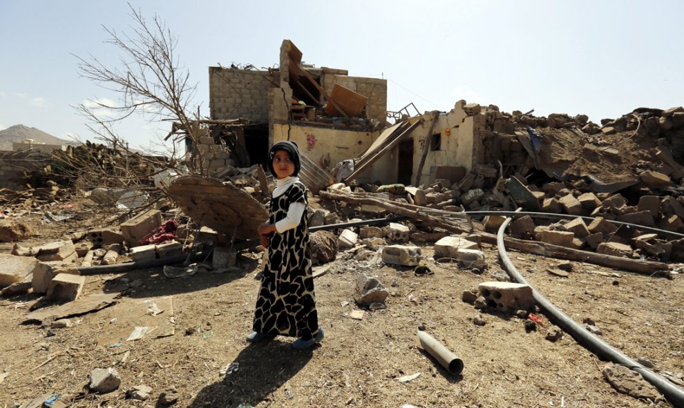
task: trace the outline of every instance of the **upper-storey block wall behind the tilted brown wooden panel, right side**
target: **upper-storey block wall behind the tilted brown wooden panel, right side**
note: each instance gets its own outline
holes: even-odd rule
[[[369,119],[384,121],[387,119],[387,79],[348,77],[346,75],[330,75],[323,73],[321,86],[330,94],[335,84],[340,84],[354,92],[368,97],[366,116]]]

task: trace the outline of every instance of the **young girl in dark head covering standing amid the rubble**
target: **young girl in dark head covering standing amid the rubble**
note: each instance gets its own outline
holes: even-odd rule
[[[324,335],[314,300],[306,187],[296,177],[301,167],[297,144],[274,144],[267,164],[276,177],[276,188],[269,220],[258,228],[268,255],[256,300],[254,332],[247,341],[297,336],[294,348],[307,349]]]

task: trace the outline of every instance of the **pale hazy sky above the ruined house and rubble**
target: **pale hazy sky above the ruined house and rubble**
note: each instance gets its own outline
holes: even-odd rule
[[[466,99],[505,112],[585,113],[684,104],[682,1],[131,1],[178,37],[176,53],[209,115],[208,67],[278,64],[283,39],[317,67],[388,79],[388,109],[423,112]],[[103,26],[131,32],[124,1],[0,1],[0,129],[24,124],[93,139],[71,107],[117,95],[79,77],[92,54],[120,53]],[[131,146],[168,122],[130,118]]]

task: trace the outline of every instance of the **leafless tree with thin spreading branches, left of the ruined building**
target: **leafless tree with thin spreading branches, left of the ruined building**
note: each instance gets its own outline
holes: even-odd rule
[[[180,154],[176,150],[178,142],[185,142],[188,137],[192,146],[197,146],[199,125],[199,108],[191,105],[196,93],[196,84],[189,83],[189,72],[180,66],[175,47],[178,38],[171,33],[166,24],[156,16],[146,21],[140,10],[130,4],[130,17],[133,19],[131,32],[120,34],[104,27],[111,44],[120,52],[117,66],[106,66],[93,55],[79,59],[79,73],[82,77],[95,81],[106,90],[120,95],[115,106],[93,101],[94,104],[79,104],[76,108],[88,119],[88,128],[115,150],[131,154],[128,144],[114,130],[114,125],[134,113],[151,115],[152,119],[172,121],[184,130],[182,135],[175,135],[173,148],[166,153],[171,154],[171,162],[155,161],[157,168],[173,167]],[[102,117],[97,110],[106,109],[113,113],[112,117]],[[163,146],[163,144],[160,144]],[[160,152],[157,152],[160,153]],[[202,154],[193,149],[195,161],[189,162],[196,173],[202,173]],[[127,184],[127,183],[124,183]]]

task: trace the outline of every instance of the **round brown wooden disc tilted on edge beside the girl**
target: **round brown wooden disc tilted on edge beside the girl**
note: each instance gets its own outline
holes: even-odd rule
[[[187,175],[173,180],[169,197],[200,225],[243,240],[256,240],[268,220],[266,208],[233,184]]]

